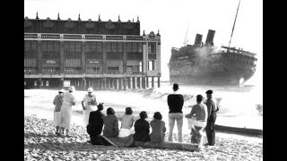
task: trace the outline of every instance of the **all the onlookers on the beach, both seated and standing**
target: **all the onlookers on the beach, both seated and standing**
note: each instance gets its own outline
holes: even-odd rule
[[[184,105],[184,97],[178,94],[178,84],[173,84],[173,93],[168,96],[169,106],[169,141],[172,141],[172,131],[177,122],[178,126],[178,142],[182,142],[182,124],[183,113],[182,106]],[[54,98],[54,124],[56,126],[56,134],[69,137],[69,129],[71,124],[72,106],[75,106],[75,98],[73,92],[74,86],[69,87],[68,92],[64,89],[58,91],[58,95]],[[203,96],[196,96],[196,105],[192,107],[190,114],[185,117],[190,120],[191,126],[191,142],[202,144],[202,131],[205,128],[208,143],[205,145],[214,145],[214,122],[218,107],[211,97],[212,90],[206,91],[207,100],[203,103]],[[167,131],[165,122],[161,121],[162,115],[160,112],[153,114],[151,123],[145,119],[148,117],[145,111],[139,114],[139,119],[135,120],[131,107],[126,107],[126,112],[121,117],[115,115],[115,110],[109,107],[106,114],[103,114],[104,106],[97,102],[93,89],[88,89],[88,94],[83,97],[83,123],[87,133],[90,135],[89,143],[92,145],[113,145],[116,141],[123,143],[126,147],[133,146],[135,141],[154,143],[164,142],[165,132]],[[92,106],[97,106],[97,110],[93,111]],[[215,114],[215,115],[214,115]],[[196,115],[196,116],[194,116]],[[118,121],[121,122],[118,128]],[[131,129],[135,127],[135,133]],[[150,133],[150,127],[152,132]],[[102,135],[100,135],[102,133]],[[197,138],[196,138],[197,137]],[[199,138],[198,138],[199,137]],[[110,141],[112,140],[112,141]],[[195,141],[196,140],[196,141]],[[199,141],[198,141],[199,140]]]

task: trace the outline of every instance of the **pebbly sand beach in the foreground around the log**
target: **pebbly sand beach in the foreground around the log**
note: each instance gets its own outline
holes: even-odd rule
[[[214,147],[199,152],[153,148],[92,146],[85,129],[72,124],[71,137],[57,136],[51,121],[34,116],[24,120],[25,160],[262,160],[262,139],[217,133]],[[166,138],[167,139],[167,138]],[[184,134],[184,142],[190,135]],[[206,137],[204,137],[206,142]]]

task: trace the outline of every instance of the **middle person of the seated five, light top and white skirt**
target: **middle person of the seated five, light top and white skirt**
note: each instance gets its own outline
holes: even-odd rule
[[[126,107],[126,113],[118,118],[118,120],[122,122],[118,133],[119,138],[125,138],[131,134],[131,128],[135,123],[135,117],[132,114],[132,108]]]

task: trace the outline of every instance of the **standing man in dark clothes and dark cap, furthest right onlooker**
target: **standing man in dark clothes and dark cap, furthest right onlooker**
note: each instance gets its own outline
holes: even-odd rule
[[[216,106],[215,100],[213,100],[213,90],[207,90],[206,92],[207,100],[204,104],[207,106],[207,124],[205,127],[206,137],[208,143],[205,146],[214,146],[215,144],[215,120],[216,113],[219,110]]]

